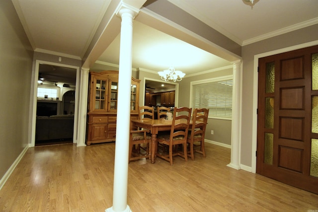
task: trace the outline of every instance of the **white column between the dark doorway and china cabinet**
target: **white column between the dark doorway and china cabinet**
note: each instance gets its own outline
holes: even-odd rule
[[[79,125],[77,146],[86,146],[86,113],[87,113],[87,90],[88,90],[88,72],[89,69],[81,68],[79,85]]]

